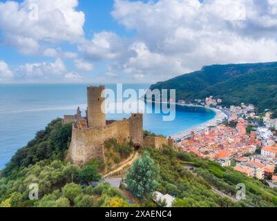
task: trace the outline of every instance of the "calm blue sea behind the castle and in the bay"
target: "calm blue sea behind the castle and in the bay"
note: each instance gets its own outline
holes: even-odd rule
[[[107,85],[115,89],[115,85]],[[149,85],[126,84],[124,88],[146,89]],[[0,169],[18,148],[26,145],[35,133],[52,119],[75,114],[77,106],[86,108],[84,84],[0,84]],[[151,105],[151,104],[148,104]],[[173,135],[215,116],[204,108],[178,106],[173,122],[163,122],[162,114],[144,115],[144,129],[157,134]],[[122,119],[126,115],[107,115],[108,119]]]

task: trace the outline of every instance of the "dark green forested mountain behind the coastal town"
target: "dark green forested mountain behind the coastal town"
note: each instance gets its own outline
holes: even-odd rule
[[[260,112],[266,108],[277,112],[277,62],[204,66],[150,89],[176,89],[176,99],[187,102],[213,95],[226,106],[244,102]]]

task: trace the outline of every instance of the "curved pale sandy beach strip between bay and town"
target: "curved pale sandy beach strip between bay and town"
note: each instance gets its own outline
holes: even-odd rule
[[[157,102],[153,102],[153,101],[148,101],[146,99],[144,99],[144,101],[150,102],[150,103],[157,103]],[[210,119],[208,122],[204,122],[193,128],[189,128],[185,131],[181,131],[180,133],[175,133],[175,134],[171,135],[171,138],[173,138],[174,140],[178,140],[178,143],[182,142],[184,140],[187,140],[191,135],[191,131],[194,131],[195,135],[198,135],[199,133],[206,131],[207,128],[209,128],[211,126],[217,126],[218,124],[221,124],[225,119],[228,119],[228,116],[225,113],[223,113],[222,111],[220,111],[219,109],[216,109],[216,108],[208,108],[206,106],[193,105],[193,104],[178,104],[178,103],[172,103],[172,102],[171,103],[160,102],[160,104],[174,104],[176,106],[189,106],[189,107],[205,108],[207,110],[210,110],[210,111],[213,111],[214,113],[216,113],[216,116],[213,117],[212,119]]]

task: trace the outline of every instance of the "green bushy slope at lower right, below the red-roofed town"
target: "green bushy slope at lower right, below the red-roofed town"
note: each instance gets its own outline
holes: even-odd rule
[[[146,148],[155,163],[160,165],[160,179],[157,191],[169,193],[177,200],[176,207],[229,207],[229,206],[276,206],[277,192],[262,182],[245,177],[242,173],[222,167],[216,162],[203,160],[195,155],[184,152],[175,152],[164,147],[157,151]],[[143,150],[142,150],[143,151]],[[165,154],[166,153],[166,154]],[[192,171],[185,166],[193,166]],[[196,174],[196,175],[195,175]],[[222,193],[236,197],[236,185],[246,185],[247,200],[234,202],[229,198],[215,193],[212,188]]]

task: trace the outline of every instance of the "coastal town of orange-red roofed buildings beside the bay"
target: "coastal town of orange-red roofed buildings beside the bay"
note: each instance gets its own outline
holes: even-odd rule
[[[175,135],[178,147],[276,187],[277,119],[271,119],[270,112],[256,115],[253,104],[223,108],[222,99],[213,96],[195,102],[217,115],[198,128]],[[179,100],[178,104],[186,102]]]

